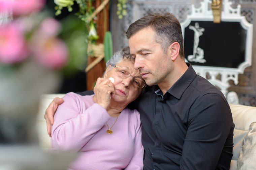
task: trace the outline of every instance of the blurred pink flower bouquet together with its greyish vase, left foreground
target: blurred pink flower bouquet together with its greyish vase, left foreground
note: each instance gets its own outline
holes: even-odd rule
[[[61,82],[56,69],[65,66],[68,49],[59,22],[39,12],[43,6],[44,0],[0,0],[0,14],[13,14],[0,25],[0,144],[37,142],[40,96]]]

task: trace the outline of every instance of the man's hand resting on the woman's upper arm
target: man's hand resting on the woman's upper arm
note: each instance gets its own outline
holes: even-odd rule
[[[44,118],[46,120],[46,126],[47,126],[47,133],[50,137],[52,137],[52,125],[54,122],[53,116],[60,104],[63,103],[63,99],[56,97],[53,99],[53,101],[50,103],[48,108],[45,110]]]

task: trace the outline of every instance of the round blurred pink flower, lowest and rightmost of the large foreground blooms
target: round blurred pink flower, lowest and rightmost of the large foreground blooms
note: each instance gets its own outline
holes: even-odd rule
[[[34,44],[34,56],[45,67],[60,68],[67,61],[68,50],[58,38],[41,39]]]

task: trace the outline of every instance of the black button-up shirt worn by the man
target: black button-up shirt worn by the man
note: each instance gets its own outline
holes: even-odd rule
[[[234,124],[224,95],[190,64],[163,95],[148,87],[134,102],[140,112],[144,169],[229,169]]]

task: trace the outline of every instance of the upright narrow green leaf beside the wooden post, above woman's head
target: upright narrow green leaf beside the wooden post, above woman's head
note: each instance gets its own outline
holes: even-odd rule
[[[110,32],[105,33],[104,37],[104,60],[107,62],[113,56],[113,42]]]

